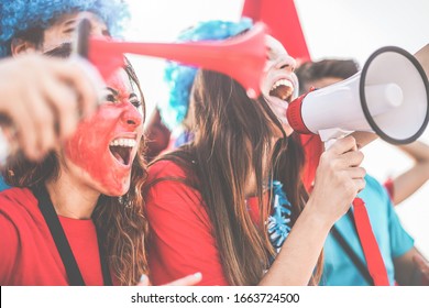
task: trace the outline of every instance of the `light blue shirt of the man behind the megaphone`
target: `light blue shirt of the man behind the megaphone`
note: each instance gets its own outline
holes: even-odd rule
[[[414,246],[414,240],[403,229],[385,188],[371,176],[365,176],[365,180],[366,186],[358,196],[366,205],[371,226],[386,265],[391,285],[393,285],[395,283],[393,260],[408,252]],[[366,264],[358,234],[349,217],[342,217],[337,221],[336,227],[363,264]],[[331,233],[329,233],[323,249],[324,266],[320,285],[369,285]]]

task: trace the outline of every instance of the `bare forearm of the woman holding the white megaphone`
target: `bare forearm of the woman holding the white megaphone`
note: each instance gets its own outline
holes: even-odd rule
[[[308,285],[331,227],[306,206],[260,285]]]

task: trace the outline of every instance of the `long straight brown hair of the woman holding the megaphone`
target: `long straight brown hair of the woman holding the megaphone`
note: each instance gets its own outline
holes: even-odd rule
[[[282,180],[296,220],[307,200],[300,179],[301,147],[299,142],[286,138],[264,99],[249,99],[239,84],[222,74],[200,70],[191,103],[194,142],[158,160],[180,164],[190,174],[182,180],[201,193],[229,283],[256,285],[270,266],[270,256],[275,254],[265,226],[270,205],[263,202],[263,187],[270,176]],[[273,123],[284,139],[275,145],[273,156],[267,157],[274,145]],[[262,205],[258,224],[252,221],[244,196],[251,169]],[[160,180],[163,179],[156,183]]]

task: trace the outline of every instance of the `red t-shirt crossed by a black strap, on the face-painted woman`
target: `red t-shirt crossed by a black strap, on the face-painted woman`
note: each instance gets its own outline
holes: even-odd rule
[[[103,285],[92,220],[58,217],[86,285]],[[0,285],[68,285],[67,274],[32,191],[0,194]]]

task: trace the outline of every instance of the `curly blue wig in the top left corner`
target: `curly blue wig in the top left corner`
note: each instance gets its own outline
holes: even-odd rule
[[[10,42],[33,28],[47,29],[62,14],[89,11],[106,22],[116,36],[130,18],[123,0],[6,0],[0,3],[0,58],[10,54]]]

